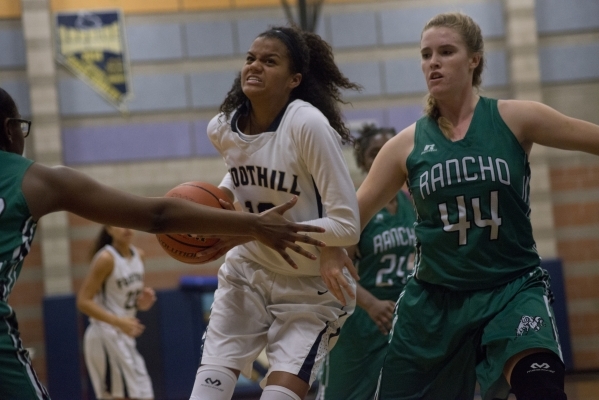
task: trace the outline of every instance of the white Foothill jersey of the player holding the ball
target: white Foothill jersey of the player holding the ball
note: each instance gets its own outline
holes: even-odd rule
[[[260,213],[298,196],[285,218],[326,229],[310,233],[329,246],[350,246],[359,240],[355,188],[343,153],[341,137],[310,103],[294,100],[268,129],[248,136],[237,128],[240,112],[225,121],[223,114],[208,124],[208,137],[229,170],[221,186],[235,194],[245,211]],[[302,244],[319,255],[319,248]],[[285,275],[320,275],[319,260],[289,252],[298,269],[274,250],[252,241],[231,250],[265,268]]]

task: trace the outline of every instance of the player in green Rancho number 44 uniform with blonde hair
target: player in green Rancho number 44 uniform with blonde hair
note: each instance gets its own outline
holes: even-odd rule
[[[387,142],[358,189],[363,226],[408,183],[415,274],[397,305],[379,399],[566,399],[549,277],[530,224],[533,143],[599,155],[599,126],[533,101],[477,92],[479,26],[424,27],[426,116]],[[539,367],[542,366],[542,367]]]

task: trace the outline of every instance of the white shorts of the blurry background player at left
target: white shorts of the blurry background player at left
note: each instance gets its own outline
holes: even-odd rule
[[[107,324],[90,324],[83,351],[97,399],[154,398],[146,363],[132,337]]]

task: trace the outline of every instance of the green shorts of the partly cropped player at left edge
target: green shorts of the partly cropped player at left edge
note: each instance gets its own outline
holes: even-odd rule
[[[50,399],[22,346],[14,312],[0,317],[0,399]]]

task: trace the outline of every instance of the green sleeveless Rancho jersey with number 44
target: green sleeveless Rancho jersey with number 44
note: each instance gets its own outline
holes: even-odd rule
[[[407,168],[418,279],[485,289],[540,264],[529,218],[528,157],[497,100],[480,97],[464,139],[456,142],[429,117],[419,119]]]

